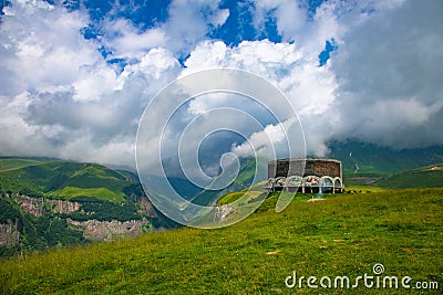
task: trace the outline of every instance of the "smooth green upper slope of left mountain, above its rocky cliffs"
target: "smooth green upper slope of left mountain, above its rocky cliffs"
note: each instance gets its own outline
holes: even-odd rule
[[[0,190],[31,197],[94,197],[123,202],[127,175],[95,164],[0,158]]]

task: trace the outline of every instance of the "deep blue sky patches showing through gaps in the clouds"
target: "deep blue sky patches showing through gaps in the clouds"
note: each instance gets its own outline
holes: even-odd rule
[[[54,3],[54,1],[49,1]],[[130,20],[131,23],[145,31],[156,28],[162,23],[167,22],[169,14],[168,8],[172,1],[151,0],[151,1],[119,1],[119,7],[115,7],[115,1],[66,1],[64,7],[69,10],[85,9],[90,15],[90,24],[84,30],[84,36],[87,39],[96,39],[103,32],[101,22],[104,19],[121,19]],[[298,4],[307,11],[307,19],[315,15],[316,9],[321,6],[322,0],[300,1]],[[269,40],[271,42],[281,42],[282,36],[279,34],[276,23],[276,18],[267,15],[261,28],[254,25],[255,3],[253,1],[219,1],[218,8],[228,11],[228,17],[220,25],[212,27],[200,40],[223,40],[228,46],[237,46],[243,41]],[[212,12],[204,12],[205,18],[210,18]],[[295,42],[295,40],[290,40]],[[329,60],[330,52],[336,50],[333,40],[324,41],[324,50],[319,54],[319,65],[324,65]],[[102,49],[104,57],[112,55],[112,49]],[[176,57],[182,63],[186,60],[190,52],[177,52]],[[112,62],[122,62],[122,60],[112,60]]]

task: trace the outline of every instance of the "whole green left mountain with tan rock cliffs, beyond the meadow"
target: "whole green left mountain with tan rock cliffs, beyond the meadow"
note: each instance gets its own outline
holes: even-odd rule
[[[137,177],[97,164],[0,158],[0,256],[176,226]]]

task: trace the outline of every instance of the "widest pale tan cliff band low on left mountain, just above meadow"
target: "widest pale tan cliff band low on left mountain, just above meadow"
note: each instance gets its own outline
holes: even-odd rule
[[[117,220],[74,221],[71,219],[68,219],[66,221],[72,225],[82,226],[84,229],[84,238],[104,241],[112,240],[116,236],[137,236],[143,233],[143,229],[150,224],[146,219],[124,222]]]

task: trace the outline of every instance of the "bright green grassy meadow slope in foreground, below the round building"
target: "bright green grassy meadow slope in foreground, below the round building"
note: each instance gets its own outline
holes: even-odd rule
[[[375,263],[384,265],[383,275],[411,276],[411,285],[439,283],[424,294],[443,288],[443,189],[330,196],[280,213],[268,207],[224,229],[185,228],[2,259],[0,294],[278,294],[300,292],[285,286],[293,271],[353,280],[373,275]],[[301,293],[312,292],[306,285]],[[327,292],[404,291],[361,284]]]

